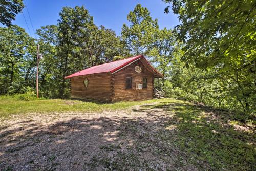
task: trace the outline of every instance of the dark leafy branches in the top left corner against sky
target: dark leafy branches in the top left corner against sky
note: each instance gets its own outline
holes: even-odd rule
[[[11,26],[12,20],[23,8],[22,0],[0,0],[0,23]]]

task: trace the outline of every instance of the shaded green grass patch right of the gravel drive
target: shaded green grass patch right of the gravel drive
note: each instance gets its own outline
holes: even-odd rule
[[[165,123],[166,131],[175,126],[175,144],[199,169],[205,168],[196,164],[198,161],[208,164],[212,170],[253,170],[256,137],[253,132],[236,130],[233,125],[237,121],[226,123],[226,115],[230,114],[207,111],[185,102],[160,103],[151,108],[164,108],[174,114]]]

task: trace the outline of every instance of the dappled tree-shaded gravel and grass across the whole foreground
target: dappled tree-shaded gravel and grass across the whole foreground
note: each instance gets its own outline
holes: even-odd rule
[[[24,121],[1,128],[0,169],[253,169],[254,133],[237,130],[225,115],[189,103],[158,103],[127,116]]]

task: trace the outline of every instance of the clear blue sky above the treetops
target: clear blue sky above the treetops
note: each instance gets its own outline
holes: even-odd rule
[[[106,28],[111,28],[117,35],[121,34],[123,23],[127,23],[127,14],[132,11],[138,3],[150,11],[153,19],[158,19],[160,29],[164,27],[174,28],[174,26],[179,24],[177,15],[174,15],[173,13],[169,13],[168,15],[164,14],[164,8],[167,4],[164,4],[161,0],[26,0],[27,8],[35,30],[41,26],[56,24],[62,7],[84,5],[84,7],[88,9],[90,15],[94,17],[94,23],[97,26],[104,25]],[[23,9],[23,14],[27,20],[30,32],[32,36],[34,36],[26,8]],[[29,33],[23,14],[19,13],[13,24],[23,27]]]

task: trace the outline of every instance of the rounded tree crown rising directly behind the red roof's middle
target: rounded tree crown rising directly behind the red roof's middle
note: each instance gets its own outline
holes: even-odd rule
[[[78,40],[81,55],[87,60],[87,63],[89,62],[89,67],[129,55],[129,51],[125,49],[125,42],[121,41],[113,30],[106,29],[104,26],[98,28],[94,25],[90,27],[89,31],[82,30],[80,35]]]

